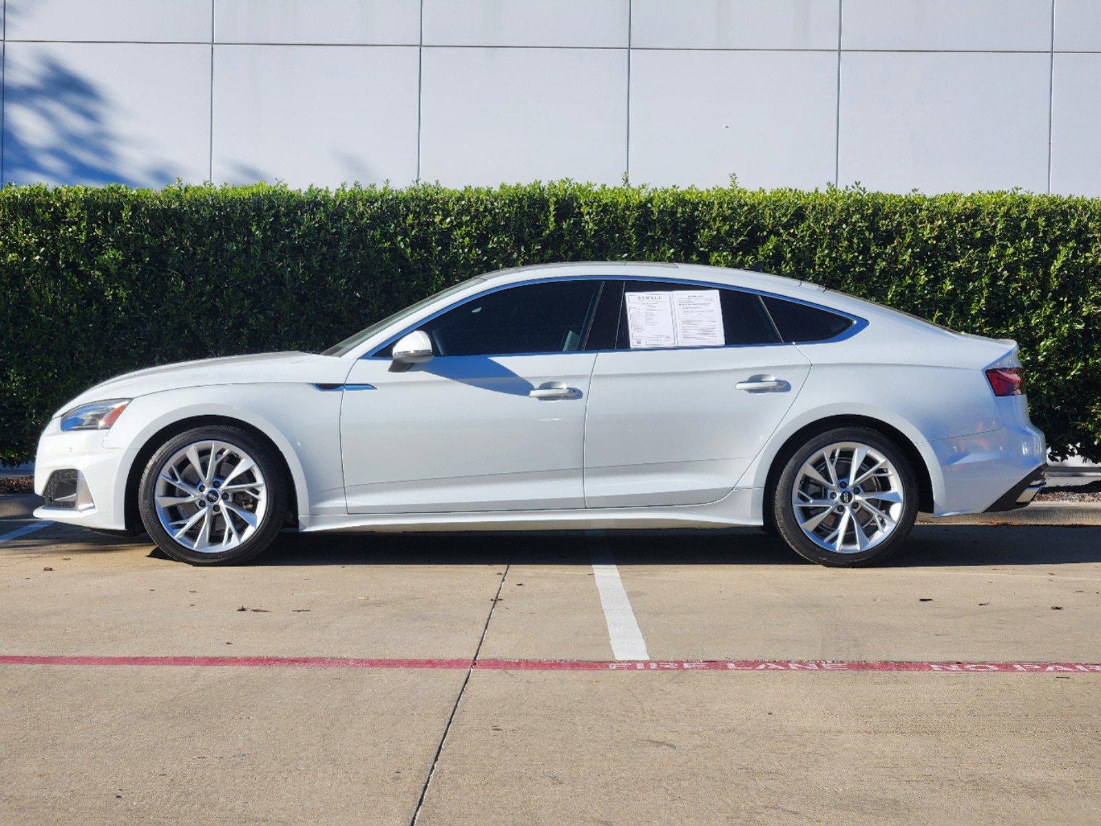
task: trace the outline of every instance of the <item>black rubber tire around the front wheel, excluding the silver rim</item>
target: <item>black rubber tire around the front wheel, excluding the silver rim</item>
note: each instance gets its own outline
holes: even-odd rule
[[[244,454],[252,457],[260,472],[263,475],[264,488],[268,496],[266,508],[257,523],[254,531],[240,542],[240,544],[221,552],[195,551],[177,542],[162,526],[156,513],[156,481],[157,477],[164,471],[165,464],[182,448],[204,441],[227,443],[230,446],[240,448]],[[284,478],[282,465],[273,455],[273,452],[246,431],[228,425],[196,427],[173,436],[150,457],[149,464],[145,465],[145,469],[142,472],[141,483],[138,486],[138,509],[141,513],[142,524],[145,525],[150,537],[173,559],[186,562],[190,565],[239,565],[257,557],[266,550],[282,530],[286,515],[286,486],[287,481]],[[210,507],[214,508],[215,506],[218,508],[221,507],[221,502],[217,501],[217,497]]]

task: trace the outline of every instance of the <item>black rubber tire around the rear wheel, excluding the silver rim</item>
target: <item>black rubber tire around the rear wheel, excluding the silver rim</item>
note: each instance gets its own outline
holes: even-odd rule
[[[817,544],[799,526],[795,507],[792,504],[796,479],[804,463],[810,459],[816,452],[839,442],[852,442],[874,448],[894,466],[901,482],[902,511],[894,530],[880,544],[863,552],[829,551]],[[892,439],[870,427],[839,427],[809,437],[787,454],[784,469],[771,491],[771,515],[780,537],[804,558],[829,567],[861,567],[882,562],[906,542],[909,531],[914,526],[914,520],[917,518],[918,492],[914,468],[903,450]],[[819,512],[810,511],[811,514]],[[866,511],[864,518],[866,519]]]

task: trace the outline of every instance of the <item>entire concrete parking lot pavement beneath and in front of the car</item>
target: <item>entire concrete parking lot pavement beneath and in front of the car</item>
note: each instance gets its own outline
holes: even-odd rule
[[[199,569],[28,524],[2,823],[1101,822],[1097,525],[923,524],[839,570],[753,530]]]

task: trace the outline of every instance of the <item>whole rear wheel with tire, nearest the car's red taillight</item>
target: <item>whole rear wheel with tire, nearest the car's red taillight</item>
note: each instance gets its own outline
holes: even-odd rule
[[[820,565],[880,562],[906,541],[917,518],[914,468],[890,438],[868,427],[813,436],[787,458],[773,491],[781,537]]]

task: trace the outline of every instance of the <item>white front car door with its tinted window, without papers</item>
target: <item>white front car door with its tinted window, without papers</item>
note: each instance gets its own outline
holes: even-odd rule
[[[429,361],[392,369],[393,343],[358,360],[340,416],[348,511],[582,508],[601,286],[489,290],[411,328],[432,339]]]

